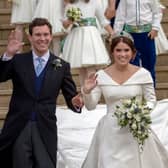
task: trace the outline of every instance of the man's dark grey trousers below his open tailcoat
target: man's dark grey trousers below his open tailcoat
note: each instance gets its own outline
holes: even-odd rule
[[[13,147],[13,168],[55,168],[35,121],[29,121]]]

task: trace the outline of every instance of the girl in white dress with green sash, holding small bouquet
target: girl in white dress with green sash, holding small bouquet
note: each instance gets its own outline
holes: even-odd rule
[[[101,35],[95,26],[96,17],[102,26],[112,34],[113,30],[106,20],[100,3],[97,0],[74,0],[73,4],[68,4],[66,11],[72,6],[80,8],[84,26],[72,28],[68,34],[63,47],[62,57],[70,62],[72,68],[79,68],[80,82],[91,72],[96,71],[96,66],[106,65],[109,57]],[[72,21],[65,18],[63,25],[65,28],[70,26]]]

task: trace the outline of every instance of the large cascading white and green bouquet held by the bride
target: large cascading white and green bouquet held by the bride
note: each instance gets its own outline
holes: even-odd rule
[[[145,100],[140,101],[136,97],[122,99],[121,105],[116,106],[114,116],[118,119],[119,126],[128,126],[129,131],[137,140],[140,149],[143,150],[145,140],[149,137],[150,124],[152,123],[150,112]]]

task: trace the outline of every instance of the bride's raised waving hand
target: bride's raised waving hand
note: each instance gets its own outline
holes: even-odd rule
[[[85,79],[83,85],[83,92],[89,94],[97,86],[97,74],[91,73],[88,78]]]

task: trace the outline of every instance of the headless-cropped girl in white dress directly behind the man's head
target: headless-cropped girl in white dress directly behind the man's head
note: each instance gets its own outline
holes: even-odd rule
[[[60,54],[60,38],[62,32],[62,19],[64,0],[38,0],[34,18],[42,17],[49,20],[53,28],[52,49],[55,55]]]

